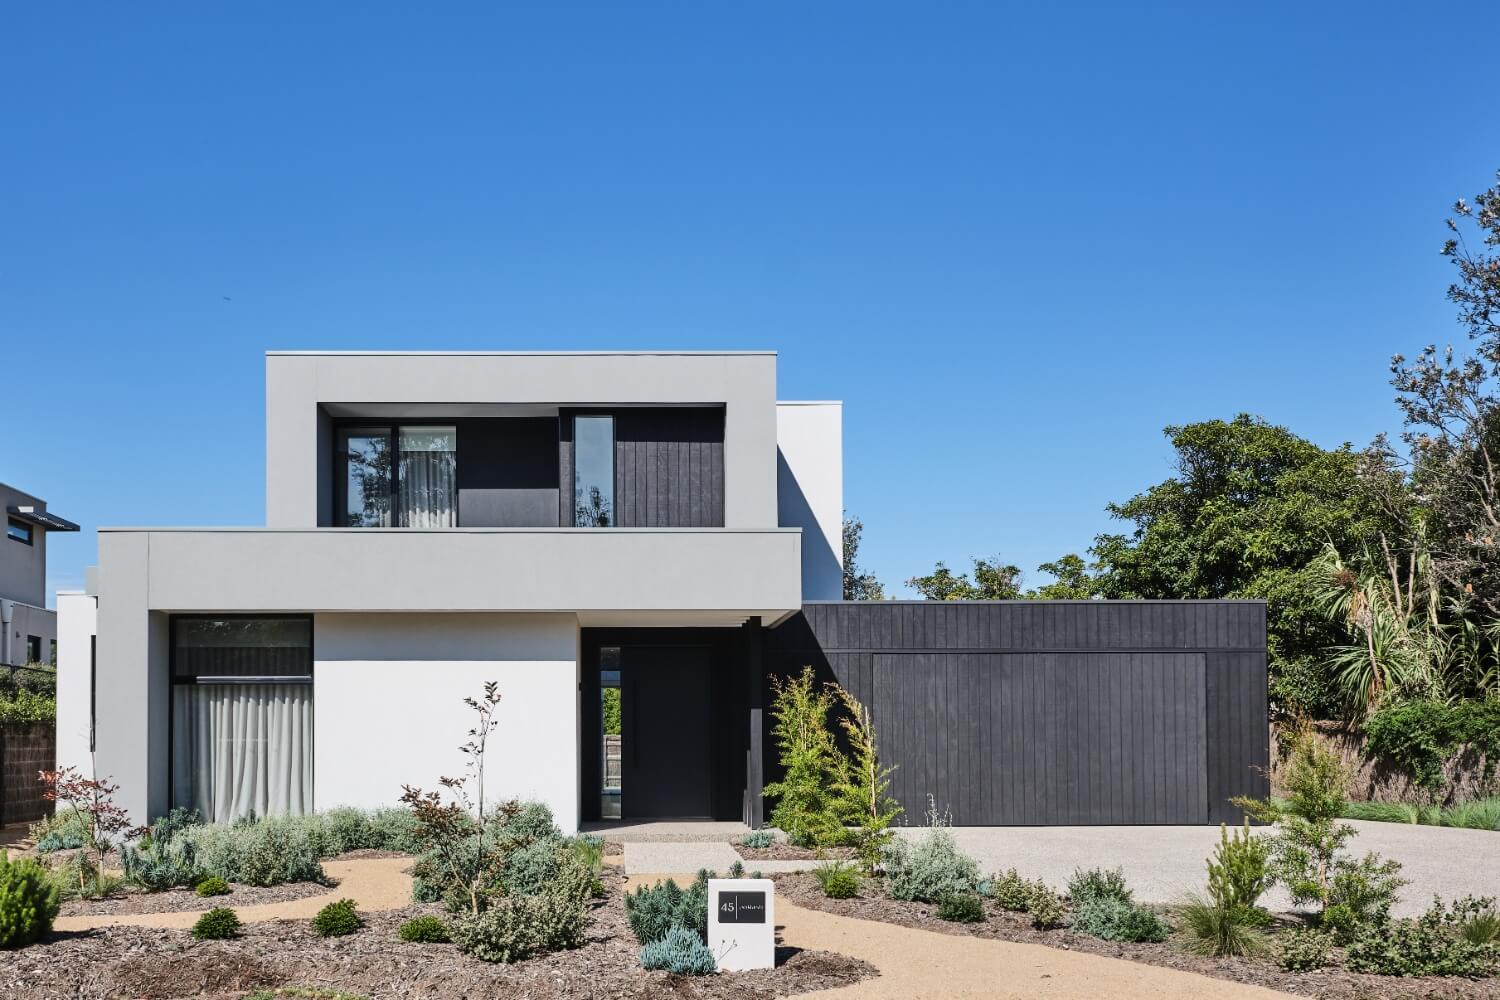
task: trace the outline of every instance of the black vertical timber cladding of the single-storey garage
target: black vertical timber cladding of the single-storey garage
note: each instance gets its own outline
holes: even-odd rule
[[[872,709],[909,822],[930,795],[969,826],[1233,823],[1269,795],[1262,601],[812,603],[765,636],[768,673],[804,664]]]

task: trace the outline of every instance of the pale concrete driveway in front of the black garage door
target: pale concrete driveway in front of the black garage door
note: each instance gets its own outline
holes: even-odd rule
[[[1377,852],[1402,865],[1410,880],[1396,916],[1416,916],[1432,901],[1464,895],[1500,895],[1500,834],[1491,831],[1347,820],[1359,831],[1348,850]],[[903,837],[921,829],[903,828]],[[1173,903],[1202,891],[1204,861],[1218,844],[1216,826],[956,826],[960,847],[984,873],[1016,868],[1060,889],[1074,868],[1124,868],[1143,903]],[[1280,888],[1268,894],[1272,910],[1290,910]]]

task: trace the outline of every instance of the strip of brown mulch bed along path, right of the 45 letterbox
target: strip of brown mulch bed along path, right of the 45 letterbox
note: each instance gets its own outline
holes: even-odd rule
[[[830,900],[818,888],[813,877],[806,873],[772,877],[776,879],[776,891],[782,898],[790,900],[808,910],[822,910],[862,921],[884,921],[886,924],[915,927],[939,934],[992,937],[1005,942],[1089,952],[1108,958],[1125,958],[1146,966],[1162,966],[1166,969],[1212,976],[1214,979],[1228,979],[1232,982],[1244,982],[1308,997],[1328,1000],[1365,1000],[1368,997],[1390,1000],[1436,1000],[1437,997],[1500,1000],[1500,979],[1473,981],[1443,976],[1401,979],[1353,973],[1344,969],[1294,973],[1281,970],[1269,958],[1204,958],[1194,955],[1184,948],[1182,939],[1178,936],[1161,943],[1126,943],[1106,942],[1088,934],[1074,934],[1066,928],[1038,931],[1030,925],[1030,918],[1024,913],[1010,913],[988,900],[984,904],[986,921],[982,924],[951,924],[938,919],[938,907],[926,903],[890,900],[876,886],[867,885],[861,897],[854,900]]]

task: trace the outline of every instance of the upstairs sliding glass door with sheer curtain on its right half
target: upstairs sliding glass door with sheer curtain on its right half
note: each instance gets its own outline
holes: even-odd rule
[[[458,525],[458,427],[339,430],[339,523],[346,528]]]

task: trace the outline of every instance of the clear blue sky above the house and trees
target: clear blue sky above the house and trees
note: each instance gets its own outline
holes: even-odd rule
[[[51,586],[262,520],[266,349],[777,349],[890,585],[1083,550],[1168,423],[1395,430],[1389,355],[1461,336],[1494,3],[500,6],[0,13]]]

